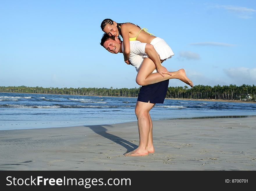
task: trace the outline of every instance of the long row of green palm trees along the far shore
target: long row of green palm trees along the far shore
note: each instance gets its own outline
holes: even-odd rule
[[[90,95],[90,96],[117,96],[137,97],[140,88],[42,88],[26,86],[0,86],[0,92],[38,93],[38,94],[69,94],[69,95]],[[166,93],[167,98],[179,99],[223,99],[223,100],[253,100],[256,101],[255,85],[195,85],[169,87]]]

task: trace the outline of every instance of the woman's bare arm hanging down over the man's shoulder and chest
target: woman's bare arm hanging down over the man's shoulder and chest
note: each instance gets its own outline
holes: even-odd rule
[[[129,40],[129,27],[127,24],[121,25],[121,33],[123,38],[123,46],[124,46],[124,59],[125,62],[129,62],[129,56],[130,56],[130,40]]]

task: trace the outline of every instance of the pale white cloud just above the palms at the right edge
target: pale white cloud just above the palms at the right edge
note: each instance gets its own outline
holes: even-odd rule
[[[256,68],[250,69],[245,67],[238,67],[223,70],[225,74],[227,74],[227,76],[234,81],[234,84],[256,84]]]

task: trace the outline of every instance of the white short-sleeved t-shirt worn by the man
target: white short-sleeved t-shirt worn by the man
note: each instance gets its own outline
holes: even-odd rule
[[[138,40],[130,41],[130,56],[129,61],[131,65],[136,68],[136,71],[139,72],[141,64],[144,58],[149,58],[149,56],[145,53],[145,47],[147,43],[140,42]],[[122,51],[124,51],[124,46],[122,43]],[[155,69],[152,73],[156,73]]]

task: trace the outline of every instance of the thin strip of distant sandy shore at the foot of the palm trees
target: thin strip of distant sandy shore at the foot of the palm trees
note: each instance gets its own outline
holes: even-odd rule
[[[39,93],[24,93],[24,92],[0,92],[0,93],[17,93],[17,94],[39,94]],[[41,93],[43,94],[43,93]],[[44,93],[45,94],[45,93]],[[97,96],[97,95],[73,95],[73,94],[45,94],[45,95],[71,95],[71,96],[93,96],[93,97],[118,97],[118,96]],[[122,97],[122,96],[119,96]],[[122,97],[122,98],[137,98],[137,97]],[[256,103],[256,101],[241,101],[241,100],[224,100],[224,99],[186,99],[186,98],[165,98],[172,100],[190,100],[190,101],[222,101],[235,103]]]

